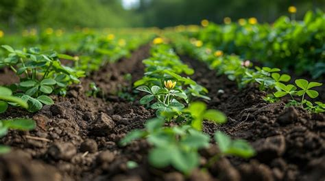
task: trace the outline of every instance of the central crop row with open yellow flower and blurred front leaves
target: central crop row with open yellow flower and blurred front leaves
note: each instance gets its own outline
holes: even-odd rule
[[[140,103],[156,109],[157,117],[148,120],[144,130],[133,130],[121,144],[145,138],[153,145],[149,151],[152,166],[163,168],[171,165],[189,173],[200,165],[198,150],[210,146],[210,136],[202,132],[203,121],[222,124],[226,122],[226,116],[220,111],[206,109],[203,102],[193,101],[195,98],[209,100],[204,95],[207,90],[189,77],[180,75],[193,74],[194,70],[182,63],[163,39],[154,40],[151,57],[143,60],[143,64],[146,66],[145,75],[134,86],[147,94]],[[168,122],[175,122],[176,126],[165,126]],[[254,150],[244,140],[231,140],[221,132],[215,133],[215,140],[220,152],[204,167],[210,167],[219,156],[227,154],[243,158],[254,155]]]

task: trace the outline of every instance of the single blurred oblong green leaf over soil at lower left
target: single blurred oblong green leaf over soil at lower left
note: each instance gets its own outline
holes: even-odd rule
[[[36,127],[34,120],[17,118],[14,120],[3,120],[3,126],[15,130],[32,130]]]

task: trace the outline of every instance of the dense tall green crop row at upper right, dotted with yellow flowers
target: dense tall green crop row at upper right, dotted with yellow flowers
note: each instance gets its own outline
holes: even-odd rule
[[[265,66],[309,71],[313,78],[325,73],[325,14],[321,10],[307,12],[302,21],[282,16],[272,25],[259,24],[256,19],[225,23],[205,22],[202,30],[188,34],[206,46],[256,59]]]

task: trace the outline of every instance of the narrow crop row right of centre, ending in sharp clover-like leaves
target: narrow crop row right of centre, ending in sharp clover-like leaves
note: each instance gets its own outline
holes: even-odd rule
[[[296,79],[295,85],[285,85],[291,80],[288,74],[280,74],[279,68],[260,68],[255,66],[252,68],[250,61],[245,61],[237,55],[224,55],[223,51],[213,50],[210,46],[201,44],[197,46],[197,41],[189,41],[184,36],[174,36],[174,44],[180,53],[187,53],[200,61],[204,61],[211,69],[216,70],[217,74],[226,74],[228,79],[236,81],[239,88],[243,88],[250,83],[258,84],[261,91],[269,94],[265,97],[268,102],[276,102],[280,97],[291,96],[288,105],[304,107],[310,112],[320,113],[325,111],[324,103],[312,103],[306,100],[319,96],[313,87],[321,86],[322,83],[308,82],[304,79]],[[300,89],[298,89],[298,88]],[[295,98],[296,97],[296,98]]]

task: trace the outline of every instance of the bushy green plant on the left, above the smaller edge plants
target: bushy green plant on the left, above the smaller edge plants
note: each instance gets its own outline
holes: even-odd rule
[[[7,58],[0,61],[0,66],[10,67],[20,78],[20,83],[12,86],[14,92],[20,93],[29,107],[28,111],[36,112],[43,105],[53,104],[47,94],[61,94],[67,92],[67,86],[79,83],[83,71],[63,66],[59,57],[69,58],[67,55],[58,55],[54,51],[41,52],[39,48],[14,50],[11,46],[3,45],[9,52]],[[18,95],[18,94],[17,94]]]

